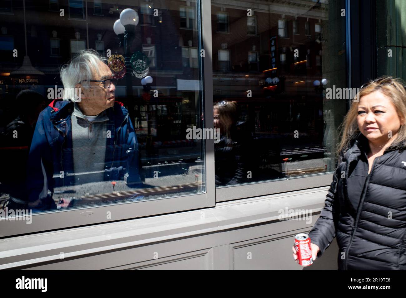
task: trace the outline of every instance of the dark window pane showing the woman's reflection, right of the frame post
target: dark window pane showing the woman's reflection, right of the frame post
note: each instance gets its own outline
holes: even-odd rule
[[[333,94],[346,87],[346,26],[338,13],[345,3],[261,4],[269,5],[212,2],[216,186],[324,174],[336,166],[337,128],[350,96]],[[219,32],[226,14],[227,36]],[[243,24],[257,24],[256,35]],[[315,36],[308,36],[310,28]]]

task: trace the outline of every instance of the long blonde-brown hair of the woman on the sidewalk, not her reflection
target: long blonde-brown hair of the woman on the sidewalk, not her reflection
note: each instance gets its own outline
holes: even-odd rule
[[[400,79],[393,77],[379,77],[361,87],[361,90],[356,94],[350,110],[344,117],[343,123],[340,125],[341,141],[337,149],[337,156],[340,157],[342,152],[345,152],[350,147],[351,140],[360,133],[358,128],[357,116],[358,105],[361,97],[372,92],[379,91],[389,98],[395,106],[397,114],[400,118],[406,120],[406,91]],[[391,148],[402,149],[406,146],[406,125],[401,125],[397,132],[397,137],[391,143]]]

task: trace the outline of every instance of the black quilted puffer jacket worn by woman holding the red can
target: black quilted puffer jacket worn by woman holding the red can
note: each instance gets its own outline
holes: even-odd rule
[[[369,175],[368,150],[354,135],[309,236],[317,256],[337,236],[339,270],[406,270],[406,150],[387,148]]]

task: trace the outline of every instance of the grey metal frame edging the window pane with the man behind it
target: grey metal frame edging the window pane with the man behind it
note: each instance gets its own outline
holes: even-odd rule
[[[201,2],[204,1],[196,3],[196,16],[199,47],[205,50],[205,57],[199,59],[199,65],[201,66],[201,91],[199,94],[200,100],[204,100],[204,111],[209,111],[207,114],[204,113],[203,126],[213,129],[213,113],[210,112],[213,109],[212,57],[210,56],[211,50],[209,51],[212,47],[211,12],[210,4],[202,5]],[[202,5],[202,7],[199,5]],[[205,80],[207,80],[207,83],[205,83]],[[32,214],[31,224],[21,220],[0,220],[0,238],[214,207],[216,205],[215,180],[214,175],[211,174],[214,173],[214,140],[204,141],[203,150],[205,156],[204,172],[209,173],[205,174],[205,193],[162,197],[159,199],[147,199],[145,201],[108,204],[73,210],[60,210],[57,212],[35,213]],[[111,214],[111,219],[107,219],[107,214]]]

